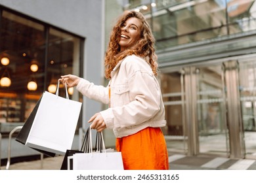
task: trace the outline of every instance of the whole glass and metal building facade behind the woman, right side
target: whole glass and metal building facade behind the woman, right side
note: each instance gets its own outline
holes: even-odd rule
[[[106,1],[108,35],[126,10],[156,38],[169,152],[256,158],[255,1]]]

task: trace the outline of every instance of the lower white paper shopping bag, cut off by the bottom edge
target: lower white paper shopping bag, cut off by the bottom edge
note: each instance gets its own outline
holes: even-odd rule
[[[91,152],[75,153],[72,157],[68,157],[68,162],[70,162],[70,159],[73,159],[74,170],[123,170],[121,152],[113,152],[112,149],[106,150],[103,135],[101,135],[102,153],[93,152],[91,133],[89,138]],[[70,164],[68,164],[68,167],[70,167]]]

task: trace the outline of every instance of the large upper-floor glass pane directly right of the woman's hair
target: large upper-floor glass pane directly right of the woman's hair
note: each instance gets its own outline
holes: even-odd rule
[[[156,1],[152,16],[158,49],[227,34],[225,7],[215,1]]]

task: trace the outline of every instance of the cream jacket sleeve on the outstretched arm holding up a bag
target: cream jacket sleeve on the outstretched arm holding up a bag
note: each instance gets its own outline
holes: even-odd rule
[[[89,82],[88,80],[81,78],[76,89],[89,99],[93,99],[104,104],[109,103],[108,86],[98,86],[93,84],[93,82]]]

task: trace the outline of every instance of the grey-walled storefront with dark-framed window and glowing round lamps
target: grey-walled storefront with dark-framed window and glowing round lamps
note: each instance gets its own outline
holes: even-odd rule
[[[0,156],[7,158],[9,134],[24,125],[44,91],[55,93],[58,78],[73,74],[102,84],[104,1],[0,0]],[[59,95],[64,96],[60,85]],[[102,105],[69,88],[83,102],[72,148]],[[60,114],[65,115],[65,114]],[[61,126],[60,126],[61,130]],[[17,131],[18,132],[18,131]],[[12,138],[12,157],[38,154]]]

